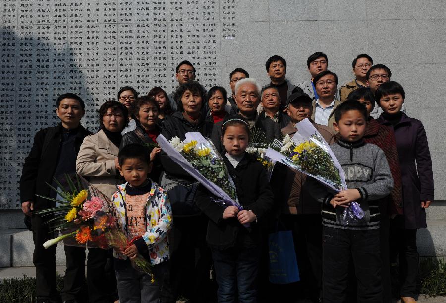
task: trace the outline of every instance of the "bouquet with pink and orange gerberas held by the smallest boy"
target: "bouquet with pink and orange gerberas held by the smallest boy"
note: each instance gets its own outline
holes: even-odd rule
[[[61,236],[45,242],[45,248],[62,241],[68,246],[122,251],[132,244],[132,239],[119,225],[118,211],[109,197],[77,174],[65,174],[63,179],[54,181],[57,188],[49,186],[57,197],[40,197],[56,202],[57,206],[35,212],[44,219],[48,218],[46,223],[51,229],[61,233]],[[131,262],[141,272],[152,272],[150,260],[141,255]]]

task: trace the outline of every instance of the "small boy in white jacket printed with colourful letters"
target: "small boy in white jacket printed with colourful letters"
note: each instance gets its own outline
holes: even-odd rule
[[[125,250],[114,251],[119,300],[159,302],[162,281],[168,271],[170,202],[167,192],[147,178],[151,165],[145,147],[137,143],[126,145],[119,151],[118,161],[119,172],[127,183],[117,185],[111,199],[119,210],[120,224],[130,234],[129,240],[134,240]],[[154,265],[153,276],[132,267],[129,258],[139,254]]]

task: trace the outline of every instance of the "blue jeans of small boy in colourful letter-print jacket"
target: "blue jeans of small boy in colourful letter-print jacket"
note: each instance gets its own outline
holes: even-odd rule
[[[163,262],[153,267],[155,281],[152,276],[135,270],[130,261],[114,259],[117,288],[120,303],[158,303],[163,286],[164,275],[169,270],[169,264]]]

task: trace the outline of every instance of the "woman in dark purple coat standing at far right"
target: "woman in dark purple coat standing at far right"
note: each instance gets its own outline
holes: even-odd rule
[[[395,132],[403,185],[404,214],[390,223],[390,252],[394,255],[390,260],[396,261],[399,254],[401,301],[415,302],[418,295],[417,229],[427,227],[425,209],[434,200],[431,154],[421,121],[401,111],[402,86],[394,81],[383,83],[375,97],[384,111],[377,121]]]

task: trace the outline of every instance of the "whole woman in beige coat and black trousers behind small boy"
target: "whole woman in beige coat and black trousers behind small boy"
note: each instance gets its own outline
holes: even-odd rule
[[[85,137],[82,142],[77,155],[76,172],[87,177],[91,184],[111,198],[116,191],[116,184],[122,183],[117,169],[117,155],[122,139],[121,131],[128,124],[128,111],[117,101],[107,101],[98,112],[101,128],[96,134]],[[89,302],[106,303],[118,300],[112,262],[107,262],[111,255],[109,250],[88,248]],[[83,266],[85,254],[79,253],[77,262]]]

